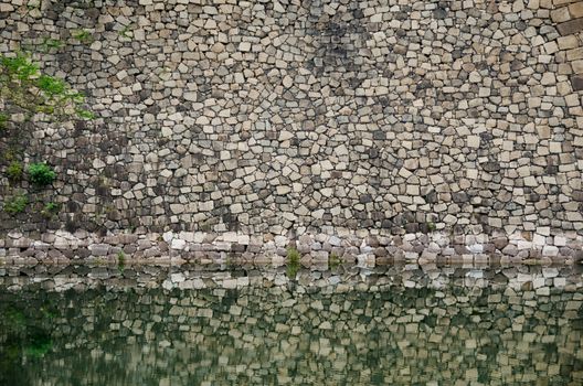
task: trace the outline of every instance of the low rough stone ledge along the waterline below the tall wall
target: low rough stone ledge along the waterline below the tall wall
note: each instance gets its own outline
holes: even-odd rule
[[[541,234],[542,233],[542,234]],[[451,235],[443,232],[399,236],[304,234],[250,236],[237,233],[167,232],[98,236],[55,230],[29,238],[11,232],[0,239],[4,262],[131,261],[284,264],[287,248],[301,255],[301,264],[327,264],[331,255],[343,262],[443,264],[572,264],[583,259],[583,236],[516,233]]]

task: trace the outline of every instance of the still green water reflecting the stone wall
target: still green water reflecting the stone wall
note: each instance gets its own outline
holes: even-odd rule
[[[0,269],[0,385],[581,385],[573,268]]]

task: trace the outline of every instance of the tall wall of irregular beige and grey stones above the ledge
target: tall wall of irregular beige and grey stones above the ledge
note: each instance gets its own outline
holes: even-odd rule
[[[583,235],[581,2],[22,3],[0,52],[32,47],[97,119],[25,140],[59,176],[22,182],[12,238]]]

